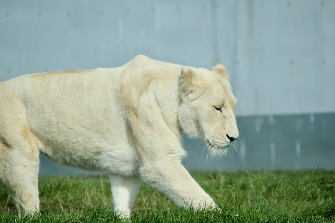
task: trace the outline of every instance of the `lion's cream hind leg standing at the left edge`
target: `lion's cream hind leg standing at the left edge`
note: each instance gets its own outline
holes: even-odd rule
[[[39,149],[23,136],[15,140],[1,137],[0,179],[13,197],[20,216],[35,213],[40,208]]]

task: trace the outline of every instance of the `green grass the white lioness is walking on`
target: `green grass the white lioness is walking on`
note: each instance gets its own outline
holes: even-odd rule
[[[220,211],[187,211],[146,184],[135,222],[335,222],[335,171],[192,173]],[[41,177],[41,213],[22,222],[122,222],[113,213],[105,176]],[[0,183],[0,222],[18,221]]]

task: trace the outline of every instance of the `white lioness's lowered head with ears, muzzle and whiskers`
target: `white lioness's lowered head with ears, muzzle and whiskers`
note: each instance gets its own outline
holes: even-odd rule
[[[178,119],[190,137],[206,140],[213,153],[222,154],[239,137],[231,92],[223,65],[212,71],[183,67],[179,83],[181,107]]]

